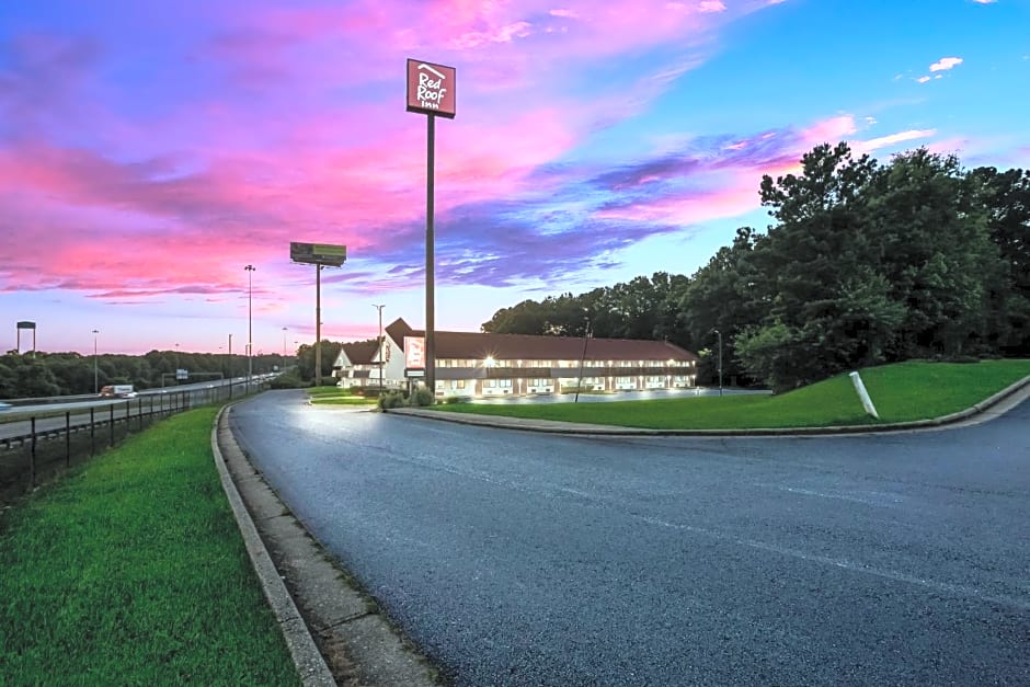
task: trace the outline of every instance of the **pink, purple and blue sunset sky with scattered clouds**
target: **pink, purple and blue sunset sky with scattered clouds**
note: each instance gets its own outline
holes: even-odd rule
[[[291,241],[347,247],[323,339],[423,327],[409,58],[456,69],[437,330],[690,275],[822,142],[1030,167],[1030,0],[3,0],[2,350],[291,353]]]

